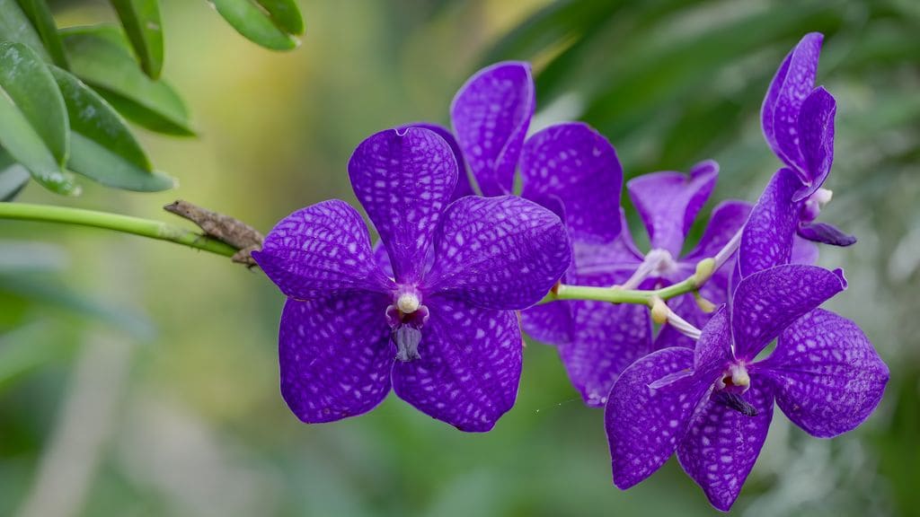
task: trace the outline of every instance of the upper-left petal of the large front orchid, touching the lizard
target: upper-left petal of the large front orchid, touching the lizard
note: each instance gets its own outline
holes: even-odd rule
[[[361,214],[345,201],[323,201],[288,215],[252,257],[282,293],[300,300],[384,293],[392,286],[372,259]]]

